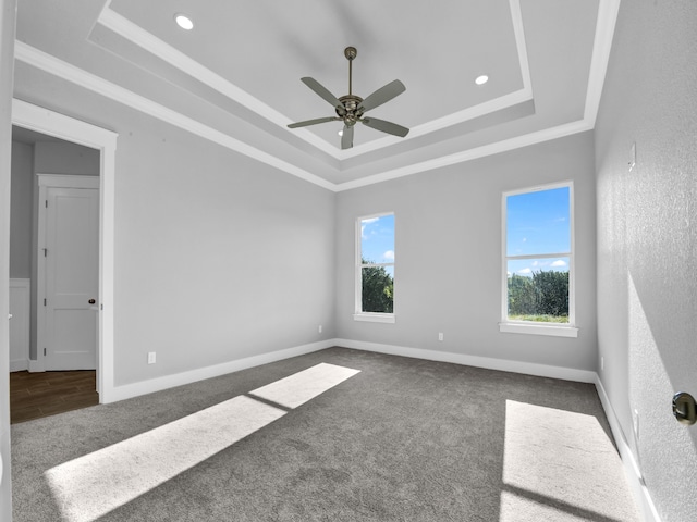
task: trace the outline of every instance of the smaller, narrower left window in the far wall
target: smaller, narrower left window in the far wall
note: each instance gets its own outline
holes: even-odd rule
[[[356,220],[357,321],[394,322],[394,214]]]

